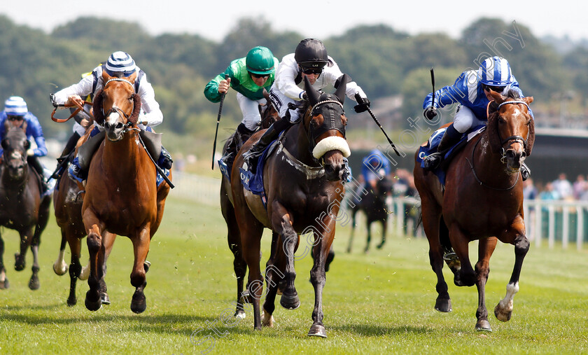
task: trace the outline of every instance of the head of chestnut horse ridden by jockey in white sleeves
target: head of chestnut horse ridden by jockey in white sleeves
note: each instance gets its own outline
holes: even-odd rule
[[[134,92],[136,79],[137,73],[118,78],[102,71],[104,88],[94,97],[94,119],[104,126],[111,141],[122,139],[129,127],[137,125],[141,97]]]

